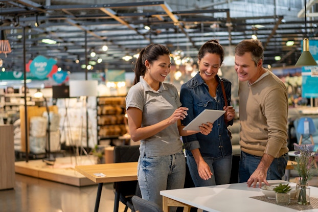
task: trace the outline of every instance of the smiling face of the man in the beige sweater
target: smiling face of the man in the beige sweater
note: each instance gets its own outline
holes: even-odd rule
[[[254,83],[263,73],[262,59],[255,65],[252,53],[246,52],[242,56],[235,55],[235,70],[240,81]]]

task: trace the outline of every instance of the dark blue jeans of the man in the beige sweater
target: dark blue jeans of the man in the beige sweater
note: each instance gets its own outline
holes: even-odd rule
[[[241,151],[238,182],[247,182],[249,177],[251,177],[256,170],[261,159],[262,157],[247,154]],[[281,180],[285,174],[287,160],[287,153],[280,156],[279,158],[274,158],[268,168],[266,180]]]

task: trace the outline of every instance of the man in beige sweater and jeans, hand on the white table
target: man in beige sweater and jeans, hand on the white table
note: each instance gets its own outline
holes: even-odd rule
[[[243,40],[235,48],[241,123],[239,182],[248,187],[282,179],[288,160],[287,89],[262,66],[263,54],[258,40]]]

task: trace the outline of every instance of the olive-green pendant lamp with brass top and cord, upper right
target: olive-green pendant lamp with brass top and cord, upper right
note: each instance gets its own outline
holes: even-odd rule
[[[295,66],[315,66],[316,61],[309,52],[309,40],[307,38],[306,0],[305,2],[305,39],[303,40],[303,52]]]

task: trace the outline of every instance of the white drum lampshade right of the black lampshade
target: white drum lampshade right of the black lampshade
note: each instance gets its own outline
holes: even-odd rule
[[[70,97],[97,96],[97,80],[70,80]]]

